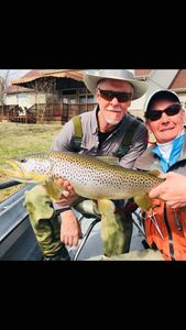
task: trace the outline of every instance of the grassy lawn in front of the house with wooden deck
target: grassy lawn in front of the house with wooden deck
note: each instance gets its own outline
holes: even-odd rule
[[[3,165],[6,160],[10,157],[48,151],[61,129],[61,123],[22,124],[0,122],[0,165]],[[10,178],[0,174],[0,182],[7,180],[10,180]],[[23,185],[19,185],[0,190],[0,201],[22,187]]]

